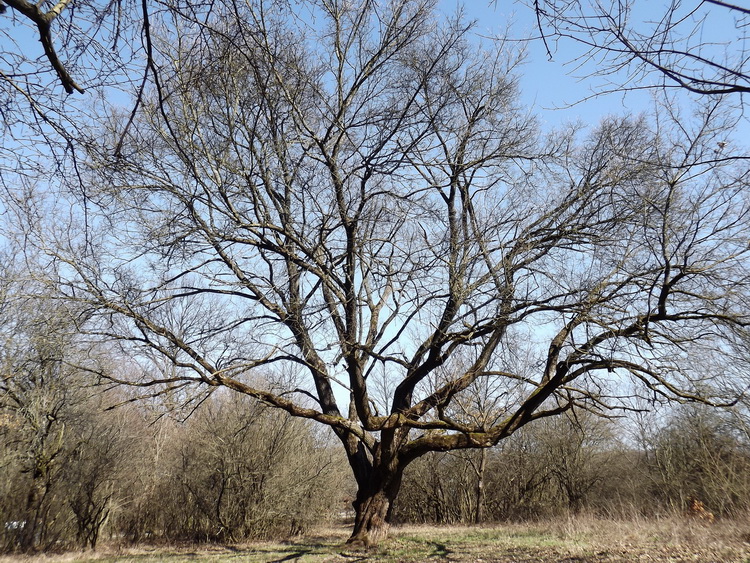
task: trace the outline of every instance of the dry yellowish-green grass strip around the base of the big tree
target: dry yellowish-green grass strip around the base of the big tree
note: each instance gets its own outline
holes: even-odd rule
[[[118,546],[96,552],[0,557],[0,563],[97,563],[195,561],[270,563],[750,563],[750,520],[713,525],[683,519],[615,521],[591,517],[487,527],[394,527],[390,538],[369,550],[344,545],[345,527],[318,530],[288,542],[238,545]]]

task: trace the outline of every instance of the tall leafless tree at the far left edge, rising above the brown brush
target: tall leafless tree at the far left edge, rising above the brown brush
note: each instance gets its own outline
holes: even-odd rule
[[[4,257],[0,306],[0,532],[6,550],[96,547],[127,479],[123,425],[78,370],[74,310]],[[27,256],[28,258],[28,256]],[[33,262],[27,262],[30,266]],[[106,402],[105,402],[106,404]]]

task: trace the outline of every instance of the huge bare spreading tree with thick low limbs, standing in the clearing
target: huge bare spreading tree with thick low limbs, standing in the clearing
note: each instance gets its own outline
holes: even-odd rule
[[[88,223],[39,243],[92,338],[152,362],[113,380],[330,426],[363,544],[420,456],[606,413],[629,380],[651,400],[746,385],[692,362],[750,320],[748,172],[716,106],[541,143],[515,54],[432,0],[206,10],[162,26],[159,88],[102,132]],[[529,358],[504,353],[519,338]],[[483,380],[490,423],[453,408]]]

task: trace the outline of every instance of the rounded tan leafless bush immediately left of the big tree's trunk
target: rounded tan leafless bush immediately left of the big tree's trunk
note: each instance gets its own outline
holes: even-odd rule
[[[161,495],[176,501],[174,537],[268,539],[324,522],[348,487],[332,467],[341,460],[313,430],[248,397],[212,397],[183,424],[178,463],[162,468],[172,484]]]

